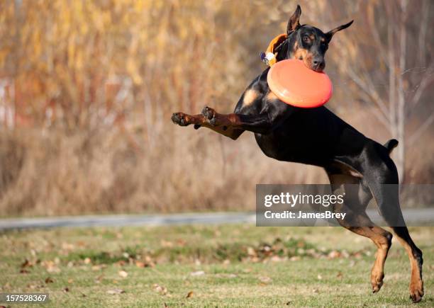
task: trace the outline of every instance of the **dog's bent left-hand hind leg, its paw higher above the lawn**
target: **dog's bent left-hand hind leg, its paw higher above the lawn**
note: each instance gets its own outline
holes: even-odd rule
[[[378,292],[383,285],[384,263],[391,246],[392,234],[375,225],[367,216],[365,210],[372,194],[362,185],[360,178],[330,171],[328,178],[333,193],[345,193],[343,205],[335,206],[335,212],[347,214],[345,219],[338,219],[339,224],[355,234],[371,239],[377,246],[377,258],[371,270],[371,285],[372,292]]]

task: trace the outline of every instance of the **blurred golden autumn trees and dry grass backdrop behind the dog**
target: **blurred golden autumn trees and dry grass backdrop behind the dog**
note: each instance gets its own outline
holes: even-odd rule
[[[296,4],[324,31],[355,20],[328,50],[328,108],[399,139],[403,183],[432,183],[433,1],[1,0],[0,216],[253,210],[257,183],[327,183],[251,133],[170,120],[232,112]]]

